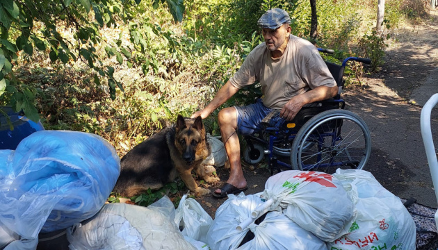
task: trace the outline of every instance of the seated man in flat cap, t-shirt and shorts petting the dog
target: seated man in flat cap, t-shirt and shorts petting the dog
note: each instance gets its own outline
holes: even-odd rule
[[[290,121],[307,103],[330,99],[338,87],[327,65],[311,42],[291,35],[289,14],[279,8],[268,10],[257,24],[265,42],[254,48],[241,68],[222,86],[216,97],[191,117],[208,117],[238,90],[261,83],[263,99],[249,106],[234,106],[220,110],[218,124],[231,167],[230,175],[213,197],[227,197],[247,190],[241,167],[238,133],[250,135],[261,130],[261,121],[273,110],[279,110],[277,126]]]

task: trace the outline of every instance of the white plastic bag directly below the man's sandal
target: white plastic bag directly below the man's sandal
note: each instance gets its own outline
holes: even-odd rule
[[[236,249],[250,230],[247,227],[239,232],[236,227],[250,217],[252,210],[261,203],[263,201],[255,195],[229,194],[227,201],[216,210],[215,219],[206,235],[210,249]]]

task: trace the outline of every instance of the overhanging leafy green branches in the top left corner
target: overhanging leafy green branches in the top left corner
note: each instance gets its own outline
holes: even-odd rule
[[[136,3],[140,3],[136,0]],[[165,0],[174,19],[181,21],[184,6],[181,0]],[[157,8],[159,0],[154,0]],[[104,54],[97,53],[97,47],[104,39],[102,28],[115,28],[117,22],[128,23],[135,16],[131,0],[5,0],[0,2],[0,102],[23,110],[29,119],[38,120],[35,108],[38,90],[26,85],[15,77],[13,65],[20,57],[31,58],[35,49],[48,53],[52,63],[69,64],[82,60],[92,72],[97,85],[100,76],[106,78],[111,99],[115,99],[116,88],[123,91],[122,83],[114,78],[115,69],[104,65]],[[89,16],[94,15],[94,18]],[[63,28],[70,28],[74,39],[65,37]],[[131,32],[131,40],[137,41],[136,32]],[[120,34],[122,35],[122,33]],[[122,65],[131,59],[129,48],[119,40],[108,42],[106,56],[115,56]],[[25,53],[25,55],[23,54]],[[152,66],[156,60],[152,58]]]

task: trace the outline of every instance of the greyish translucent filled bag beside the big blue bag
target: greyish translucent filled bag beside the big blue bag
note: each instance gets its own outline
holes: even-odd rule
[[[67,228],[69,248],[195,250],[169,213],[175,210],[172,201],[163,197],[157,202],[161,204],[147,208],[127,203],[105,204],[95,217]]]

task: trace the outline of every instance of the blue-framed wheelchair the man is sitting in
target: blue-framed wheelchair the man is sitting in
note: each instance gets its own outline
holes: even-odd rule
[[[327,174],[337,168],[364,168],[371,154],[370,131],[362,118],[344,109],[346,102],[341,99],[343,71],[350,60],[371,63],[368,58],[357,57],[344,59],[342,65],[326,61],[339,88],[336,97],[303,106],[292,121],[280,128],[269,126],[272,114],[268,115],[262,122],[263,131],[244,137],[243,160],[256,164],[267,158],[270,174],[284,168]]]

